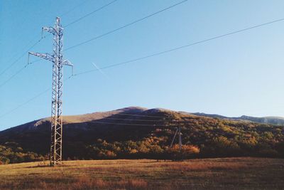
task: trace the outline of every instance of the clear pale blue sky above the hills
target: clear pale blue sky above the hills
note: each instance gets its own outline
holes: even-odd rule
[[[111,1],[0,0],[0,130],[50,117],[52,63],[40,60],[23,67],[28,49],[41,38],[41,28],[53,26],[56,16],[67,49],[182,0],[117,0],[66,26]],[[283,19],[283,10],[282,0],[188,0],[63,51],[63,56],[72,62],[75,74],[82,73]],[[52,53],[52,37],[41,39],[30,51]],[[284,21],[279,21],[77,75],[64,82],[63,112],[80,115],[141,106],[231,117],[284,117],[283,51]],[[34,60],[38,58],[31,56],[30,62]],[[65,67],[65,78],[71,74]]]

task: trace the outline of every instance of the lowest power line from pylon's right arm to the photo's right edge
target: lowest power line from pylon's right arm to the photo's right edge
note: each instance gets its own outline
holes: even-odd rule
[[[266,26],[268,24],[272,24],[272,23],[276,23],[276,22],[280,22],[280,21],[284,21],[284,18],[283,19],[278,19],[278,20],[274,20],[274,21],[270,21],[270,22],[267,22],[267,23],[261,23],[259,25],[256,25],[256,26],[251,26],[249,28],[244,28],[244,29],[241,29],[241,30],[238,30],[238,31],[233,31],[233,32],[230,32],[230,33],[224,33],[222,35],[219,35],[219,36],[214,36],[212,38],[207,38],[205,40],[202,40],[202,41],[196,41],[194,43],[189,43],[187,45],[184,45],[184,46],[178,46],[178,47],[175,47],[175,48],[171,48],[171,49],[168,49],[166,51],[160,51],[158,53],[153,53],[151,55],[148,55],[148,56],[143,56],[143,57],[140,57],[140,58],[135,58],[135,59],[131,59],[131,60],[126,60],[124,62],[121,62],[121,63],[116,63],[116,64],[113,64],[113,65],[107,65],[105,67],[102,67],[100,69],[107,69],[107,68],[113,68],[113,67],[116,67],[116,66],[119,66],[119,65],[124,65],[126,63],[132,63],[132,62],[136,62],[138,60],[143,60],[143,59],[146,59],[146,58],[151,58],[151,57],[154,57],[154,56],[160,56],[162,54],[165,54],[165,53],[170,53],[172,51],[178,51],[182,48],[188,48],[190,46],[195,46],[195,45],[198,45],[198,44],[201,44],[201,43],[205,43],[207,41],[213,41],[213,40],[216,40],[218,38],[224,38],[226,36],[230,36],[230,35],[233,35],[233,34],[236,34],[236,33],[241,33],[241,32],[244,32],[244,31],[249,31],[253,28],[258,28],[258,27],[261,27],[261,26]],[[87,73],[92,73],[94,71],[97,71],[98,69],[93,69],[93,70],[86,70],[82,73],[77,73],[75,75],[83,75],[83,74],[87,74]]]

